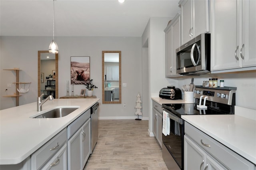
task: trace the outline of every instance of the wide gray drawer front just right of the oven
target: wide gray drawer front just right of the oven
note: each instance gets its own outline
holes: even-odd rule
[[[212,155],[216,160],[221,162],[228,169],[254,169],[254,165],[251,162],[187,122],[185,122],[185,134],[187,136],[190,136],[192,140],[194,140],[199,146],[201,146],[204,150],[206,150],[210,155]],[[204,144],[210,145],[210,147],[204,146],[201,141]]]

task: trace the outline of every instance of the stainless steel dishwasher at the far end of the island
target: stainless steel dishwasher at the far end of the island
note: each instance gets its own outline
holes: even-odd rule
[[[91,107],[91,154],[98,140],[98,107],[98,102]]]

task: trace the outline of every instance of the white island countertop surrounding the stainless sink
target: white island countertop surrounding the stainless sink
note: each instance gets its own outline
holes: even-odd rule
[[[36,111],[36,102],[0,111],[0,164],[18,164],[67,127],[100,99],[54,99]],[[61,118],[33,119],[59,106],[77,106]]]

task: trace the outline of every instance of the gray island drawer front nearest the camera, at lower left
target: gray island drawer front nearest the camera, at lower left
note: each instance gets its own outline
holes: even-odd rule
[[[67,129],[64,128],[61,132],[56,134],[46,144],[34,152],[31,156],[31,169],[39,169],[47,160],[55,154],[61,146],[66,143],[67,140]]]

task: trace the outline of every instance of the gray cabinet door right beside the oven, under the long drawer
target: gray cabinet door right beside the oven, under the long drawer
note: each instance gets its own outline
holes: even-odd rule
[[[205,160],[205,152],[184,135],[184,170],[202,170]]]

